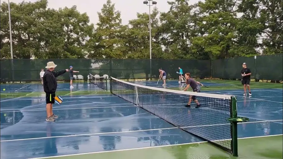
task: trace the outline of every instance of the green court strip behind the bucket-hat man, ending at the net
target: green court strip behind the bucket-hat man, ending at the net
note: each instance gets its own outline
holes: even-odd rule
[[[70,96],[70,95],[95,95],[95,94],[110,94],[109,91],[103,90],[74,90],[74,91],[56,91],[57,96]],[[37,97],[45,96],[44,92],[12,92],[1,93],[0,98],[17,98],[17,97]]]

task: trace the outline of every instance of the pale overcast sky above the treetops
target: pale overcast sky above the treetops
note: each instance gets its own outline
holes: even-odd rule
[[[122,24],[128,24],[131,19],[136,19],[136,13],[144,13],[149,11],[148,6],[143,4],[144,0],[112,0],[115,3],[116,10],[121,11]],[[167,12],[170,6],[167,4],[167,0],[155,0],[155,5],[159,11]],[[171,0],[170,0],[171,1]],[[8,0],[0,0],[0,2],[8,2]],[[10,0],[10,2],[20,3],[22,0]],[[26,2],[36,2],[36,0],[26,0]],[[197,3],[198,0],[191,0],[189,3]],[[106,0],[48,0],[48,8],[64,8],[77,6],[77,10],[80,13],[86,12],[90,18],[90,22],[96,24],[98,22],[97,12],[100,12],[103,4]]]

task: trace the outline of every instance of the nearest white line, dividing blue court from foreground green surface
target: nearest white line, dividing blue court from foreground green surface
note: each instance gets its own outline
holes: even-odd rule
[[[262,137],[273,137],[273,136],[281,136],[281,135],[283,135],[283,134],[244,137],[244,138],[238,138],[238,140],[242,140],[242,139],[253,139],[253,138],[262,138]],[[228,139],[228,140],[230,140],[230,139]],[[215,141],[219,141],[219,140],[215,140]],[[122,149],[122,150],[111,150],[111,151],[86,152],[86,153],[78,153],[78,154],[58,155],[58,156],[47,156],[47,157],[36,157],[36,158],[28,158],[28,159],[45,159],[45,158],[55,158],[55,157],[79,156],[79,155],[88,155],[88,154],[97,154],[97,153],[107,153],[107,152],[119,152],[119,151],[142,150],[142,149],[158,148],[158,147],[191,145],[191,144],[199,144],[199,143],[208,143],[208,142],[207,142],[207,141],[200,141],[200,142],[191,142],[191,143],[183,143],[183,144],[160,145],[160,146],[150,146],[150,147],[139,147],[139,148]]]

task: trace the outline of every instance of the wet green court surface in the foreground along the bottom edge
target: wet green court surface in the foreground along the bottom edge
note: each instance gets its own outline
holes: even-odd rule
[[[190,143],[128,149],[121,151],[103,151],[76,155],[50,157],[52,159],[280,159],[282,158],[282,135],[238,140],[239,157],[207,143]]]

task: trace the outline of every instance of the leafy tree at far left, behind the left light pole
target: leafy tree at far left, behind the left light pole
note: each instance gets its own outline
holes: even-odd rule
[[[39,52],[40,41],[38,35],[40,21],[47,8],[47,0],[36,1],[35,3],[21,2],[10,3],[12,42],[14,58],[31,58]],[[8,4],[1,4],[1,58],[9,58],[10,37],[8,23]]]

